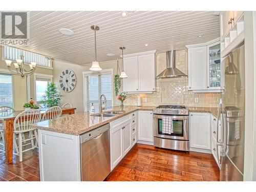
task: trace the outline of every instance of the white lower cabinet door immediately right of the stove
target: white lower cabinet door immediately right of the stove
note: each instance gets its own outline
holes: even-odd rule
[[[191,148],[210,150],[210,114],[190,113],[190,151]]]

